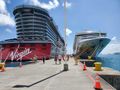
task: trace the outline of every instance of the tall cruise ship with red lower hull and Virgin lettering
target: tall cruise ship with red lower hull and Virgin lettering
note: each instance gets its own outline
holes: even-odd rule
[[[15,7],[17,38],[0,41],[1,60],[49,59],[64,54],[64,40],[47,10],[32,6]]]

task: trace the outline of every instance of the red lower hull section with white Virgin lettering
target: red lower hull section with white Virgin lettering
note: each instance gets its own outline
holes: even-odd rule
[[[32,44],[5,44],[0,51],[1,60],[31,60],[37,56],[40,60],[43,57],[50,58],[51,43],[32,43]]]

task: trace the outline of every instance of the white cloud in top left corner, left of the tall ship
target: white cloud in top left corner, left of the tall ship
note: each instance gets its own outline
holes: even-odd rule
[[[14,19],[6,9],[6,2],[10,0],[0,0],[0,25],[15,26]]]

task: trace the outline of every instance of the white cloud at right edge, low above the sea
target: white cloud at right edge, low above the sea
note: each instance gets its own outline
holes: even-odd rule
[[[120,41],[116,37],[113,37],[101,54],[113,54],[116,52],[120,52]]]

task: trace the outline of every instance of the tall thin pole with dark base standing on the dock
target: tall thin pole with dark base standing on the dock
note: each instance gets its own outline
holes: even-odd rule
[[[65,60],[65,63],[64,63],[64,71],[68,71],[68,64],[67,64],[67,39],[66,39],[66,28],[67,28],[67,9],[66,9],[66,1],[67,0],[64,0],[64,41],[65,41],[65,56],[64,56],[64,60]]]

